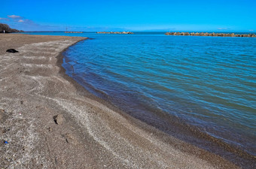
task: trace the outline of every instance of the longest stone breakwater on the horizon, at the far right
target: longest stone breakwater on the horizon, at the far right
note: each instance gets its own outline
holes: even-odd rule
[[[221,36],[221,37],[249,37],[249,38],[255,38],[255,34],[224,34],[224,33],[189,33],[189,32],[166,32],[165,35],[181,35],[181,36]]]

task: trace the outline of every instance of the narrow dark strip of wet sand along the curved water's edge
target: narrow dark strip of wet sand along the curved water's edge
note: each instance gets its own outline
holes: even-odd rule
[[[75,44],[77,44],[77,43],[75,43]],[[73,44],[73,45],[75,45],[75,44]],[[57,65],[61,68],[61,70],[59,71],[59,74],[61,74],[63,78],[65,78],[66,80],[71,82],[76,87],[76,89],[79,91],[80,95],[84,95],[85,97],[90,97],[93,100],[102,104],[103,106],[108,107],[117,113],[120,113],[121,116],[123,116],[126,120],[131,122],[133,125],[136,125],[139,128],[142,128],[143,130],[145,130],[147,132],[151,132],[151,134],[154,133],[154,135],[157,135],[157,137],[161,137],[165,143],[175,144],[176,148],[180,149],[181,151],[183,151],[185,153],[189,153],[190,155],[193,155],[194,152],[197,152],[197,154],[200,154],[200,158],[210,161],[213,165],[215,165],[215,161],[223,160],[223,159],[219,158],[218,155],[214,155],[210,152],[206,152],[206,150],[197,148],[196,146],[190,145],[189,143],[183,143],[182,140],[178,140],[174,137],[171,138],[169,134],[166,134],[163,131],[159,131],[157,128],[154,128],[154,126],[148,125],[147,123],[143,122],[141,119],[136,119],[135,117],[131,116],[129,113],[123,112],[123,110],[120,110],[118,107],[115,107],[113,104],[111,104],[111,102],[105,101],[102,98],[99,98],[96,95],[93,95],[91,92],[89,92],[87,89],[85,89],[84,86],[81,86],[77,81],[75,81],[72,77],[69,77],[69,75],[65,73],[66,69],[62,67],[63,58],[64,58],[63,53],[65,53],[66,50],[68,50],[68,49],[69,49],[69,47],[67,47],[65,50],[62,50],[62,53],[59,53],[59,56],[57,57],[57,59],[58,59]],[[221,165],[224,165],[224,163],[222,163]],[[218,166],[218,167],[220,167],[220,166]],[[230,166],[230,164],[228,164],[228,166]],[[227,166],[225,166],[225,167],[221,166],[221,167],[226,168]]]

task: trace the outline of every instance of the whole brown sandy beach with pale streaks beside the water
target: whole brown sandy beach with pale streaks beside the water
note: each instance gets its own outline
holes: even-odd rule
[[[59,53],[82,40],[0,35],[0,168],[236,168],[75,83]]]

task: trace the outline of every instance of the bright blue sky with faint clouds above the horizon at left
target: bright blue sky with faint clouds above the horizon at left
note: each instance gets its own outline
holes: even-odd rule
[[[256,32],[256,0],[1,1],[0,23],[25,31]]]

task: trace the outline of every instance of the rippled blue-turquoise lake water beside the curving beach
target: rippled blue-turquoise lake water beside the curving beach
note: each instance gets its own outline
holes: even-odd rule
[[[256,155],[256,38],[73,35],[93,39],[63,66],[93,94],[175,137],[197,128]]]

